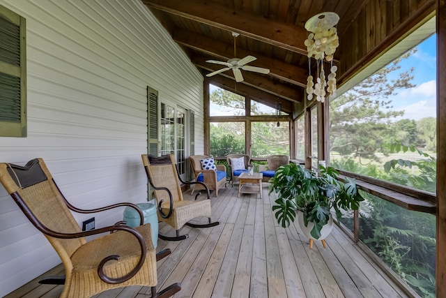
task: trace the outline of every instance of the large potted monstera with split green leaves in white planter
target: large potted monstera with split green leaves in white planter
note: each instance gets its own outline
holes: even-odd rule
[[[317,173],[295,163],[280,166],[269,186],[269,193],[278,195],[272,210],[279,225],[288,227],[297,215],[303,223],[302,232],[309,230],[307,237],[325,238],[321,231],[332,223],[332,211],[339,221],[342,210],[357,210],[364,200],[357,191],[355,179],[342,183],[338,176],[334,167],[320,166]]]

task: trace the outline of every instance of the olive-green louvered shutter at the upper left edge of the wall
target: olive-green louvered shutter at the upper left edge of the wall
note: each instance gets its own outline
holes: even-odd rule
[[[0,6],[0,136],[26,137],[26,20]]]

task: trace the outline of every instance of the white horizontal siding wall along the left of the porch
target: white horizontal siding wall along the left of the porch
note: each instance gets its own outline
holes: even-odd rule
[[[143,202],[148,85],[194,110],[196,140],[203,140],[203,77],[139,0],[0,5],[26,17],[28,68],[28,137],[0,137],[1,162],[44,158],[77,207]],[[96,226],[122,212],[97,214]],[[59,263],[0,186],[0,296]]]

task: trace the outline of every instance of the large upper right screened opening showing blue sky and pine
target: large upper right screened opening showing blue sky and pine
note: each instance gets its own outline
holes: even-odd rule
[[[436,36],[330,101],[330,164],[436,192]]]

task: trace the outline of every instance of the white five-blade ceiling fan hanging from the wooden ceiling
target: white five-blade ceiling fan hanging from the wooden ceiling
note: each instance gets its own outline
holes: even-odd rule
[[[236,33],[236,32],[232,33],[232,36],[234,37],[234,57],[236,57],[236,37],[239,35],[240,35],[240,33]],[[226,62],[217,61],[217,60],[206,60],[206,62],[208,62],[208,63],[220,64],[220,65],[226,66],[225,68],[222,68],[220,70],[215,70],[213,73],[208,73],[206,75],[206,77],[212,77],[213,75],[217,75],[217,73],[223,73],[226,70],[232,69],[234,77],[236,77],[236,82],[242,82],[243,75],[242,75],[242,71],[240,69],[254,71],[254,73],[265,73],[265,74],[270,73],[270,70],[268,68],[261,68],[261,67],[246,65],[249,62],[252,62],[256,59],[257,59],[256,57],[248,55],[247,57],[245,57],[243,59],[231,58]]]

